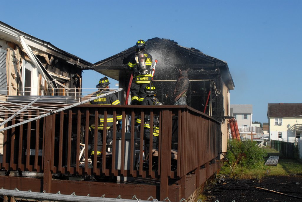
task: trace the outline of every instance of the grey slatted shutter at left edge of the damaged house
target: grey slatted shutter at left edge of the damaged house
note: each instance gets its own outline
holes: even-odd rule
[[[7,95],[6,53],[0,48],[0,94]]]

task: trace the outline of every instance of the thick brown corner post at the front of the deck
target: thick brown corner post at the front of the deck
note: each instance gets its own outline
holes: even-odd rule
[[[160,195],[159,195],[159,201],[164,200],[166,197],[168,197],[168,149],[167,145],[171,144],[169,143],[168,139],[168,133],[169,128],[172,127],[169,120],[169,110],[162,111],[162,133],[160,134],[161,139],[161,148],[160,148]],[[171,152],[171,151],[169,151]],[[171,160],[170,160],[171,161]]]

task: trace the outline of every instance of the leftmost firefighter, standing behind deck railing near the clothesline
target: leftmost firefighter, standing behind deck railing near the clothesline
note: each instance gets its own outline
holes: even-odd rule
[[[95,92],[92,97],[96,97],[105,93],[109,92],[109,80],[107,77],[104,77],[102,79],[100,79],[98,85],[96,85],[96,88],[99,88],[98,92]],[[106,95],[104,97],[101,98],[97,98],[95,100],[90,101],[90,104],[113,104],[113,105],[120,105],[120,101],[117,99],[116,95],[114,94],[109,94]],[[103,130],[104,130],[104,114],[99,115],[99,125],[98,125],[98,146],[97,146],[97,155],[100,155],[102,153],[102,148],[103,148]],[[121,125],[121,120],[122,120],[122,116],[121,115],[117,115],[116,117],[117,121],[119,122],[119,124]],[[95,134],[95,124],[92,124],[89,129],[92,132],[92,135],[94,136]],[[106,144],[107,145],[111,145],[112,144],[112,135],[113,135],[113,115],[111,114],[107,114],[107,125],[105,127],[106,129]],[[92,152],[91,155],[95,154],[94,151],[94,138],[92,140]]]

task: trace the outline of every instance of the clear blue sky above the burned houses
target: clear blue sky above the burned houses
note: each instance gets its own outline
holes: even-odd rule
[[[166,38],[228,63],[231,104],[301,103],[302,1],[3,1],[0,21],[95,63]],[[84,71],[83,88],[101,75]]]

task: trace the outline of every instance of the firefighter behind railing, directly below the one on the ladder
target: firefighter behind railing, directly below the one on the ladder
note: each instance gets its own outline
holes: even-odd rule
[[[146,98],[143,100],[142,105],[162,105],[161,102],[156,98],[156,89],[155,86],[150,82],[145,87],[145,93],[147,94]],[[150,115],[144,116],[144,141],[145,141],[145,154],[146,159],[149,154],[150,147]],[[137,117],[137,124],[141,123],[140,115]],[[153,141],[152,148],[158,149],[158,140],[159,140],[159,117],[157,115],[153,116]]]

